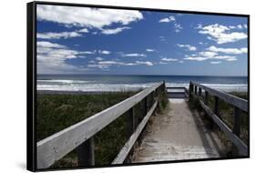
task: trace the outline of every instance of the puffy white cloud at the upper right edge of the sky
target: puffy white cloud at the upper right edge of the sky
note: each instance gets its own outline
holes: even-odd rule
[[[214,40],[218,44],[236,42],[241,39],[247,38],[246,33],[231,32],[230,27],[225,25],[199,25],[197,28],[200,29],[200,34],[209,35],[208,38],[210,40]]]

